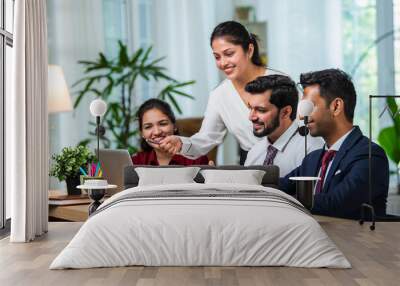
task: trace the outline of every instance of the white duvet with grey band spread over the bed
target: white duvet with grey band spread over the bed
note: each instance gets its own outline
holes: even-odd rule
[[[137,192],[168,190],[265,191],[272,199],[177,196],[121,200]],[[294,204],[299,203],[279,190],[254,185],[131,188],[105,201],[50,269],[127,265],[350,268],[320,225]]]

